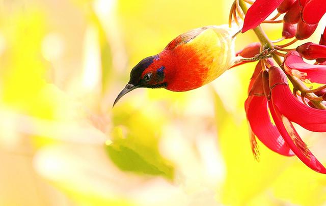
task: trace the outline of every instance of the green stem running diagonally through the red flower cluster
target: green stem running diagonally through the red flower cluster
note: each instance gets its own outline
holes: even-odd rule
[[[241,7],[243,13],[247,14],[248,8],[243,0],[239,0],[239,6]],[[274,44],[268,39],[265,32],[262,30],[261,26],[257,26],[256,28],[254,28],[254,32],[264,49],[266,48],[274,49]],[[284,67],[282,66],[283,61],[281,57],[275,53],[271,53],[271,56],[274,58],[275,62],[281,67],[281,69],[285,72]],[[314,94],[308,93],[309,91],[308,87],[301,80],[298,80],[297,78],[290,75],[287,75],[287,77],[291,81],[293,87],[296,90],[301,91],[302,93],[306,94],[309,97],[317,97]],[[319,109],[326,109],[326,106],[323,105],[320,101],[311,101],[311,102]]]

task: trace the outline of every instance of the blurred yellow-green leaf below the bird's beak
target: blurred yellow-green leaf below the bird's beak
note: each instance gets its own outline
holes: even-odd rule
[[[124,171],[174,178],[172,163],[158,150],[161,126],[165,122],[159,110],[122,105],[115,108],[113,120],[116,127],[106,151],[116,166]]]

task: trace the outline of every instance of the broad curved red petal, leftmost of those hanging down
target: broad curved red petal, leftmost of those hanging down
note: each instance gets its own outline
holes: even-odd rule
[[[278,129],[270,122],[267,99],[264,96],[249,96],[244,105],[250,127],[257,138],[274,152],[285,156],[294,155]]]

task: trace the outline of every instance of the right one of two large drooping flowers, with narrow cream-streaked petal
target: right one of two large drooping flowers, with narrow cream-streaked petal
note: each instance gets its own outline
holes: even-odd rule
[[[307,126],[303,124],[311,126],[311,124],[314,124],[312,123],[312,119],[318,119],[321,115],[321,113],[319,113],[321,110],[304,105],[292,95],[287,83],[287,78],[280,68],[271,67],[269,68],[268,74],[270,88],[268,105],[276,127],[293,153],[300,158],[301,161],[315,171],[326,173],[326,168],[324,168],[309,151],[307,145],[297,134],[291,123],[300,122],[301,124],[298,124],[301,126]],[[267,84],[267,82],[264,83]],[[322,111],[325,112],[324,117],[326,117],[326,111]],[[316,125],[314,125],[314,127],[316,127]]]

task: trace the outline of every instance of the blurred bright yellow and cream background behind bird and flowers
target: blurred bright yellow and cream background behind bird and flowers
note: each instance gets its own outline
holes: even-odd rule
[[[0,205],[326,205],[325,175],[261,142],[255,160],[243,109],[255,63],[112,108],[142,58],[227,23],[231,4],[0,0]],[[265,27],[271,39],[281,26]],[[237,49],[255,41],[239,35]],[[298,130],[326,163],[325,134]]]

